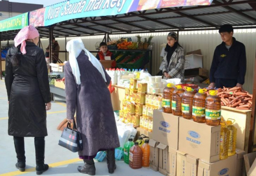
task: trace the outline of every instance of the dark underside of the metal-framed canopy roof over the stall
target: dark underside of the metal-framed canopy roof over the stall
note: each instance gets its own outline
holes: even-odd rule
[[[112,16],[70,19],[53,24],[55,37],[234,28],[256,28],[256,1],[214,0],[209,6],[183,6],[150,9]],[[38,27],[41,37],[49,37],[49,28]],[[16,31],[1,32],[1,40],[12,40]]]

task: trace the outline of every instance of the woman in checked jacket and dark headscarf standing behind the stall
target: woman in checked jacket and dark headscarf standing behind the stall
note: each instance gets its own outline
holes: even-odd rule
[[[163,74],[164,79],[179,78],[184,83],[184,49],[177,41],[177,33],[170,32],[164,49]]]

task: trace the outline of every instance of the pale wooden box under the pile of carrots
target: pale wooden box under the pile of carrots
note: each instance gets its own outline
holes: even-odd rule
[[[251,110],[238,110],[232,107],[221,107],[221,117],[224,121],[234,119],[234,126],[237,128],[237,148],[248,152]],[[254,137],[254,141],[256,136]]]

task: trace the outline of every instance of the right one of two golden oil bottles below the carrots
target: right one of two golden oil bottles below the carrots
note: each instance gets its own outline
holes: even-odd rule
[[[228,119],[226,121],[227,128],[228,130],[230,130],[230,139],[228,143],[228,157],[231,157],[235,154],[235,145],[237,144],[237,128],[233,126],[234,122],[235,122],[234,119]]]

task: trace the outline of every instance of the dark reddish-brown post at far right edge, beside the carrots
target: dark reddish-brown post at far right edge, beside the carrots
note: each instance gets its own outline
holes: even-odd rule
[[[255,118],[256,118],[256,55],[254,63],[254,83],[252,90],[252,110],[251,110],[251,126],[248,144],[248,153],[251,153],[256,146],[254,145],[254,131],[255,131]]]

